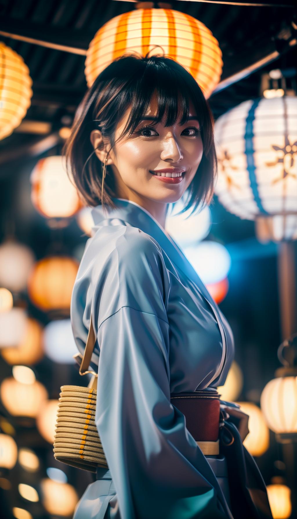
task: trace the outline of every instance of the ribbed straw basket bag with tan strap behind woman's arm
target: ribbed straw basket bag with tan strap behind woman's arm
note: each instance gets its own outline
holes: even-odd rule
[[[91,472],[108,468],[95,424],[98,375],[87,371],[95,340],[91,315],[84,355],[76,353],[73,358],[80,364],[80,375],[93,377],[88,387],[61,386],[53,449],[58,461]]]

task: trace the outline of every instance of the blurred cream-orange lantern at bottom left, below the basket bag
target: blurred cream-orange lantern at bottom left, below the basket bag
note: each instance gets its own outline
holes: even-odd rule
[[[43,506],[50,515],[66,517],[73,513],[79,496],[72,485],[43,479],[41,490]]]

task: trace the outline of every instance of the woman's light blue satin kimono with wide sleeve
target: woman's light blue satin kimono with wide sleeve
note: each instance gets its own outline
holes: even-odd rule
[[[98,468],[74,518],[230,519],[213,470],[216,456],[202,454],[170,395],[223,385],[233,334],[151,214],[137,203],[113,201],[117,209],[108,215],[101,206],[92,210],[96,232],[71,301],[81,353],[92,312],[95,421],[109,466]]]

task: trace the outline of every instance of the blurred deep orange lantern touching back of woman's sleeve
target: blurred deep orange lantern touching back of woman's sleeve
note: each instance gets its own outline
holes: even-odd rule
[[[28,280],[31,301],[42,310],[69,309],[79,263],[68,256],[37,262]]]

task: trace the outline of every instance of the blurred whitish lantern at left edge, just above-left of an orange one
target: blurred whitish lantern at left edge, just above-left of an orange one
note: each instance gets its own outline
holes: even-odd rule
[[[0,312],[0,348],[14,347],[21,342],[27,330],[27,312],[11,308]]]

